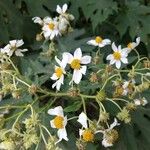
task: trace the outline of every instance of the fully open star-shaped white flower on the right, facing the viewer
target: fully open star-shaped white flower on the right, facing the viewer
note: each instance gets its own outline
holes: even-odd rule
[[[116,64],[116,67],[119,69],[121,67],[121,62],[128,64],[127,56],[128,53],[121,49],[121,45],[116,47],[115,43],[112,43],[113,54],[107,56],[107,60],[110,60],[110,65]]]

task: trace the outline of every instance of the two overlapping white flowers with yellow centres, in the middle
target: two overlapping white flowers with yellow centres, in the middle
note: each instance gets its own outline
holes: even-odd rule
[[[85,55],[82,56],[82,51],[80,48],[77,48],[74,51],[74,55],[64,52],[62,61],[55,57],[56,62],[59,66],[55,66],[55,73],[52,75],[51,79],[56,80],[52,85],[52,88],[56,86],[56,89],[59,91],[61,84],[64,83],[64,74],[66,74],[65,67],[67,64],[70,65],[70,68],[73,70],[72,80],[69,84],[75,82],[79,84],[82,75],[86,74],[87,66],[91,62],[91,56]]]

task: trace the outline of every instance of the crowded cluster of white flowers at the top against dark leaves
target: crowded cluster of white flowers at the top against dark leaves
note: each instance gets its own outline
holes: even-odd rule
[[[64,4],[62,8],[57,5],[56,12],[59,16],[55,18],[47,16],[43,19],[40,17],[32,18],[34,23],[38,23],[42,27],[40,35],[43,35],[47,40],[53,40],[58,35],[61,36],[69,32],[71,30],[70,21],[74,20],[74,16],[67,13],[67,9],[67,4]]]

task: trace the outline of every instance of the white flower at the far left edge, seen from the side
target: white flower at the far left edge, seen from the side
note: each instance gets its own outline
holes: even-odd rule
[[[12,40],[9,41],[4,48],[1,49],[1,53],[6,53],[8,56],[12,56],[15,53],[16,56],[24,56],[22,52],[28,51],[27,49],[20,49],[24,44],[23,40]]]

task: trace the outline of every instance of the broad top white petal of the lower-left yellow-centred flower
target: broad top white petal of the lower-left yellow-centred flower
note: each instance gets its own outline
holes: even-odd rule
[[[54,109],[49,109],[48,114],[64,117],[63,108],[61,106],[57,106]]]

